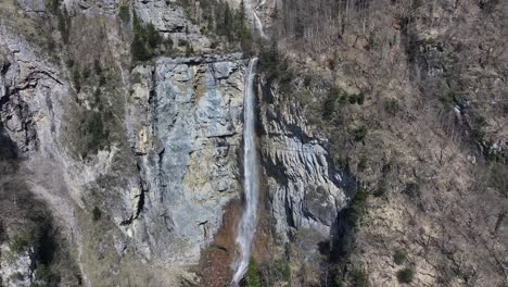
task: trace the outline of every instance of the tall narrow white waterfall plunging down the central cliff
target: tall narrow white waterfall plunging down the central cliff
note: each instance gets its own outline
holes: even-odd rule
[[[237,245],[240,247],[240,258],[234,263],[232,283],[238,286],[249,266],[251,258],[251,245],[257,224],[257,153],[255,142],[255,95],[254,95],[254,68],[257,58],[249,62],[249,71],[245,79],[245,95],[243,104],[243,192],[245,207],[238,226]]]

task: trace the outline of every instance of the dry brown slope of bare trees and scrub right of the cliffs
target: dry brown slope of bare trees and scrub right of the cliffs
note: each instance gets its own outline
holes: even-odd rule
[[[354,285],[352,271],[365,269],[372,286],[396,286],[414,267],[418,286],[506,284],[507,158],[492,149],[508,132],[506,8],[280,3],[271,33],[295,74],[288,98],[373,195],[335,278]],[[365,102],[351,100],[360,93]]]

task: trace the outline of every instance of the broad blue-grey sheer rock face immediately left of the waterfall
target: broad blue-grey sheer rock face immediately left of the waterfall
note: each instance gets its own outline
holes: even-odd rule
[[[143,194],[128,232],[169,261],[199,258],[241,190],[244,64],[224,58],[160,59],[134,70],[127,125]],[[125,222],[124,224],[130,224]]]

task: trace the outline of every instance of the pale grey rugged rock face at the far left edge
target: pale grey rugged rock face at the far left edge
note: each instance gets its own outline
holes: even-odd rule
[[[56,135],[60,122],[54,116],[61,111],[50,113],[48,108],[52,101],[60,100],[68,87],[59,80],[56,68],[47,61],[40,61],[22,37],[3,25],[0,26],[0,113],[3,129],[18,144],[21,152],[39,148],[49,151],[52,147],[46,145],[50,145],[48,141]],[[53,125],[53,128],[48,125]],[[38,136],[37,129],[40,130]]]

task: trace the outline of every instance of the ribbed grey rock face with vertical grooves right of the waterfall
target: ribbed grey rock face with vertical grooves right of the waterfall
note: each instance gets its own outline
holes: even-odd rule
[[[271,88],[263,101],[262,158],[277,232],[284,240],[301,228],[328,237],[354,183],[333,167],[326,140],[310,132],[301,107]]]

